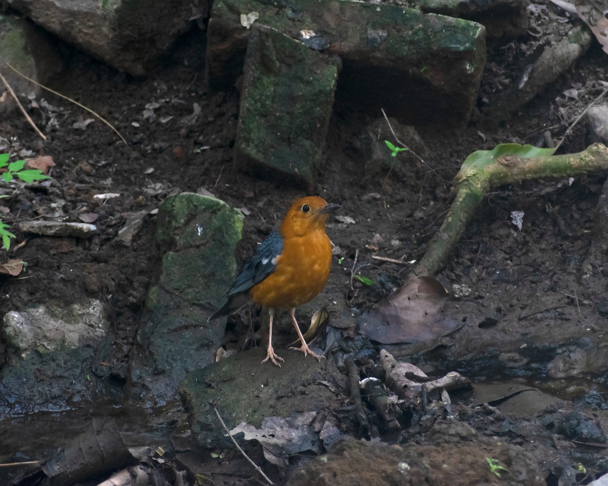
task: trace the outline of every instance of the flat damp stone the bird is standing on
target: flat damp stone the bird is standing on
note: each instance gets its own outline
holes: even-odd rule
[[[180,393],[196,440],[203,447],[227,447],[230,443],[212,402],[229,429],[241,422],[260,428],[266,417],[287,418],[306,412],[332,417],[337,412],[345,378],[336,366],[299,351],[279,354],[285,359],[281,368],[262,364],[266,349],[260,348],[193,371],[182,382]]]

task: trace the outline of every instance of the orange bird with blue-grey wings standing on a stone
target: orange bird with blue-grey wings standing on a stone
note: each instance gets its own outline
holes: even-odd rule
[[[281,366],[277,360],[283,361],[272,347],[275,309],[288,310],[302,343],[296,349],[320,359],[304,340],[295,320],[295,307],[311,301],[325,287],[331,265],[331,243],[325,234],[325,224],[330,211],[339,207],[317,196],[295,201],[281,225],[261,242],[254,256],[237,275],[224,303],[209,318],[228,315],[247,299],[268,307],[268,354],[262,363],[271,360]]]

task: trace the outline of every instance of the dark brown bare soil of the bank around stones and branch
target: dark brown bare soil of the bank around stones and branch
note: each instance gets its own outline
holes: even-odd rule
[[[535,43],[536,37],[525,35],[515,41],[494,41],[489,46],[478,108],[488,103],[491,106],[494,97],[516,82],[520,66]],[[63,49],[66,66],[51,87],[111,121],[128,145],[98,120],[84,129],[74,128],[74,123],[90,118],[89,114],[46,93],[41,98],[48,104],[41,104],[39,99],[38,107],[29,109],[48,136],[46,142],[36,137],[19,114],[0,121],[0,134],[8,140],[12,152],[50,155],[57,164],[48,190],[24,191],[3,202],[16,215],[10,223],[49,219],[57,212],[64,221],[79,221],[83,213],[98,214],[97,234],[89,240],[26,237],[15,231],[13,246],[26,238],[27,242],[9,252],[9,257],[24,259],[28,267],[18,277],[0,276],[1,305],[7,311],[24,309],[29,303],[75,303],[87,296],[109,301],[115,343],[109,365],[117,380],[126,381],[133,338],[153,278],[150,261],[157,257],[152,215],[131,246],[115,241],[126,216],[134,211],[153,211],[168,194],[201,188],[210,191],[230,206],[244,208],[243,240],[237,252],[237,261],[242,264],[280,221],[292,200],[305,194],[233,168],[231,147],[238,93],[232,86],[221,92],[206,88],[201,55],[204,33],[184,36],[164,67],[147,79],[131,78],[74,49]],[[430,150],[426,163],[405,157],[404,170],[392,171],[386,180],[386,169],[362,177],[366,160],[358,143],[365,126],[381,114],[360,112],[356,103],[337,106],[313,193],[339,203],[340,214],[352,217],[355,224],[333,222],[328,228],[330,238],[345,257],[341,266],[334,264],[328,282],[330,291],[344,295],[350,307],[364,309],[401,284],[408,267],[381,264],[371,255],[419,260],[451,204],[451,180],[466,156],[503,142],[538,145],[544,143],[545,131],[555,139],[561,138],[603,89],[598,81],[608,80],[606,61],[606,53],[594,43],[570,72],[495,128],[478,125],[474,115],[463,130],[437,129],[429,113],[429,125],[416,127]],[[573,87],[578,91],[577,99],[564,94]],[[159,106],[153,109],[153,118],[144,118],[150,103]],[[198,117],[192,117],[195,104],[201,109]],[[586,146],[586,126],[579,123],[561,152],[577,152]],[[522,295],[530,298],[542,293],[539,283],[547,275],[565,294],[573,288],[584,292],[580,265],[592,241],[593,211],[604,179],[579,177],[572,185],[555,181],[524,183],[492,193],[438,278],[448,289],[463,280],[474,282],[471,285],[479,295],[479,289],[516,282],[522,293],[493,293],[493,305],[503,309],[516,306]],[[120,193],[120,197],[100,202],[93,199],[99,193]],[[365,197],[373,193],[379,196]],[[525,211],[527,230],[517,231],[511,224],[510,213],[514,210]],[[376,239],[378,250],[366,247],[375,234],[381,237]],[[356,285],[350,290],[350,269],[357,250],[358,265],[365,265],[360,267],[362,275],[388,284]],[[595,286],[579,296],[605,305],[604,290]],[[559,312],[581,316],[578,299],[565,296]],[[573,325],[589,323],[603,329],[598,307],[588,306],[581,319],[585,323],[573,321]],[[239,336],[247,325],[241,316],[230,320],[227,347],[241,343]],[[293,340],[292,330],[285,329],[285,335],[277,336],[279,344]],[[0,367],[5,360],[0,341]],[[487,374],[487,370],[468,368],[466,361],[460,363],[460,369],[477,377]],[[605,391],[606,371],[596,371],[595,386]],[[541,376],[531,374],[531,380],[542,382]],[[565,395],[567,390],[562,392]],[[480,430],[490,427],[488,423],[478,425]]]

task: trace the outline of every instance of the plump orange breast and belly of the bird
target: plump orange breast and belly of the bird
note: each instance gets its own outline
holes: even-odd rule
[[[277,269],[249,290],[256,304],[291,309],[311,301],[330,275],[331,244],[325,231],[316,230],[283,242]]]

